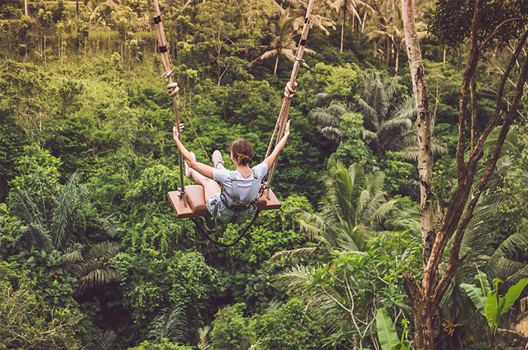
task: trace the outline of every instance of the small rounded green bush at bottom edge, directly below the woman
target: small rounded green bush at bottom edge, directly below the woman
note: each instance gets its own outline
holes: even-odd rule
[[[215,349],[249,349],[255,339],[253,321],[242,316],[245,304],[239,303],[219,310],[211,323],[211,345]]]

